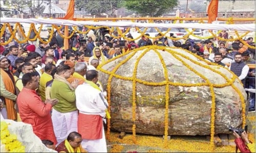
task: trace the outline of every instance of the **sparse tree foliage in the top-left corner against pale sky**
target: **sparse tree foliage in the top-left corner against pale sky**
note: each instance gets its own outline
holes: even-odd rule
[[[16,1],[6,1],[7,6],[11,7],[11,8],[15,8],[17,11],[24,13],[25,14],[25,10],[28,9],[30,12],[30,15],[32,17],[35,17],[36,15],[40,15],[42,14],[42,12],[44,12],[45,7],[42,6],[42,1],[39,2],[39,4],[33,4],[32,2],[28,2],[26,0],[16,0]]]

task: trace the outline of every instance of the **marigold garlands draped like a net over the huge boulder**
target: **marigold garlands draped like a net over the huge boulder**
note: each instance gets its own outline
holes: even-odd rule
[[[173,48],[176,48],[176,47],[173,47]],[[158,50],[156,50],[158,49]],[[179,48],[181,49],[181,48]],[[132,77],[122,77],[120,75],[117,75],[115,74],[115,71],[122,65],[124,64],[125,62],[127,62],[129,59],[131,59],[137,52],[139,52],[139,50],[142,50],[142,53],[140,54],[140,56],[137,58],[136,60],[136,63],[135,63],[135,69],[133,71],[133,76]],[[158,55],[162,65],[163,65],[163,69],[164,69],[164,76],[165,76],[165,81],[163,82],[160,82],[160,83],[150,83],[150,82],[145,82],[145,81],[142,81],[142,80],[139,80],[136,78],[136,74],[137,74],[137,67],[138,67],[138,63],[140,61],[140,59],[147,53],[149,52],[150,50],[154,50],[154,52]],[[170,54],[172,54],[177,60],[179,60],[180,62],[182,62],[182,64],[187,67],[189,70],[193,71],[195,74],[197,74],[199,77],[201,77],[203,80],[205,80],[205,83],[194,83],[194,84],[183,84],[183,83],[173,83],[173,82],[169,82],[168,81],[168,72],[167,72],[167,68],[166,68],[166,65],[164,63],[164,60],[162,58],[162,56],[160,55],[159,52],[161,52],[160,50],[165,50],[165,52],[168,52]],[[186,54],[192,54],[190,52],[188,52],[187,50],[185,49],[182,49],[184,50],[184,52],[186,52]],[[130,55],[129,55],[130,54]],[[205,65],[205,64],[202,64],[196,60],[193,60],[193,59],[190,59],[188,58],[186,55],[180,53],[180,52],[176,52],[174,50],[171,50],[170,47],[162,47],[162,46],[155,46],[155,45],[152,45],[152,46],[145,46],[145,47],[141,47],[141,48],[138,48],[138,49],[134,49],[130,52],[127,52],[127,53],[124,53],[118,57],[115,57],[114,59],[111,59],[111,60],[108,60],[105,62],[106,63],[110,63],[112,61],[114,61],[115,59],[117,58],[121,58],[123,56],[126,56],[126,55],[129,55],[125,60],[121,61],[120,63],[118,63],[116,65],[116,67],[112,70],[112,71],[108,71],[108,70],[104,70],[102,68],[102,64],[98,66],[98,69],[104,73],[107,73],[110,75],[110,78],[108,80],[108,85],[107,85],[107,89],[108,89],[108,101],[110,103],[110,90],[111,90],[111,80],[113,77],[117,78],[117,79],[121,79],[121,80],[127,80],[127,81],[133,81],[133,98],[132,98],[132,111],[133,111],[133,114],[132,114],[132,120],[134,121],[134,124],[133,124],[133,127],[132,127],[132,131],[133,131],[133,135],[132,135],[132,140],[133,142],[137,143],[138,141],[136,141],[136,124],[135,124],[135,121],[136,121],[136,83],[141,83],[141,84],[144,84],[144,85],[151,85],[151,86],[165,86],[165,119],[164,119],[164,122],[165,122],[165,131],[164,131],[164,146],[166,146],[166,142],[167,142],[167,135],[168,135],[168,99],[169,99],[169,85],[173,85],[173,86],[183,86],[183,87],[199,87],[199,86],[208,86],[209,87],[209,90],[210,90],[210,94],[211,94],[211,121],[210,121],[210,148],[211,150],[214,150],[215,149],[215,145],[214,145],[214,135],[215,135],[215,113],[216,113],[216,103],[215,103],[215,92],[214,92],[214,88],[222,88],[222,87],[226,87],[226,86],[232,86],[232,88],[238,93],[240,99],[241,99],[241,103],[242,103],[242,119],[243,119],[243,126],[245,125],[245,102],[244,102],[244,98],[243,98],[243,95],[242,93],[238,90],[237,87],[235,87],[233,85],[234,81],[237,80],[237,76],[232,73],[232,77],[229,79],[226,77],[226,75],[222,74],[220,71],[218,71],[217,69],[219,69],[220,67],[222,66],[219,66],[215,63],[211,63],[207,60],[204,60],[202,59],[201,57],[198,57],[197,55],[194,55],[193,56],[196,56],[197,58],[199,58],[200,60],[204,61],[205,63],[207,63],[208,65]],[[186,59],[186,60],[189,60],[190,62],[193,62],[194,64],[196,65],[199,65],[201,67],[204,67],[206,69],[209,69],[219,75],[221,75],[221,77],[224,78],[224,80],[226,81],[226,83],[224,84],[212,84],[210,83],[209,79],[207,79],[206,77],[204,77],[203,74],[197,72],[194,68],[190,67],[188,64],[186,64],[184,62],[183,59],[181,59],[180,57]],[[215,67],[212,67],[212,66],[215,66]],[[224,68],[224,67],[223,67]],[[226,69],[226,68],[225,68]],[[240,81],[241,83],[241,81]],[[108,131],[110,131],[110,128],[108,128]],[[110,132],[107,134],[109,135]]]

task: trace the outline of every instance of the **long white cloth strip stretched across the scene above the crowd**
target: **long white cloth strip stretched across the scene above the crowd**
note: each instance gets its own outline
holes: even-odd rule
[[[73,21],[64,19],[38,19],[38,18],[0,18],[1,23],[39,23],[56,25],[94,25],[108,27],[157,27],[157,28],[195,28],[204,30],[237,30],[255,31],[255,23],[252,24],[207,24],[207,23],[140,23],[132,21]]]

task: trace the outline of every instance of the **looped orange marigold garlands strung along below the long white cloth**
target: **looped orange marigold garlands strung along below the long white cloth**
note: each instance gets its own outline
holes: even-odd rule
[[[106,20],[107,20],[107,18],[106,18]],[[150,18],[149,18],[149,20],[151,21]],[[183,23],[183,20],[185,20],[185,19],[184,19],[184,18],[176,17],[176,19],[174,20],[174,23],[176,23],[176,21],[178,21],[178,20],[179,20],[180,23]],[[227,23],[229,23],[231,20],[232,20],[232,18],[230,18],[230,19],[227,21]],[[203,23],[203,22],[204,22],[204,21],[202,21],[202,19],[199,20],[199,21],[200,21],[200,23]],[[17,24],[18,24],[18,27],[16,26]],[[0,36],[1,36],[1,37],[4,35],[4,31],[5,31],[6,27],[9,28],[9,27],[10,27],[10,24],[9,24],[9,23],[4,23],[4,24],[3,24],[3,28],[1,29],[1,33],[0,33]],[[34,23],[31,23],[31,24],[30,24],[30,30],[29,30],[29,32],[28,32],[28,35],[26,36],[26,35],[23,33],[23,31],[21,31],[21,34],[22,34],[22,36],[24,37],[24,39],[23,39],[23,40],[19,40],[19,39],[15,36],[15,34],[16,34],[17,28],[21,29],[21,27],[20,27],[20,24],[19,24],[19,23],[16,23],[16,24],[15,24],[15,27],[14,27],[14,29],[13,29],[13,33],[11,34],[11,37],[9,38],[9,40],[6,40],[6,42],[1,43],[1,45],[7,45],[8,43],[10,43],[10,42],[12,41],[12,39],[16,40],[18,43],[24,43],[24,42],[26,42],[26,41],[28,41],[28,40],[30,40],[30,41],[35,41],[37,38],[38,38],[39,41],[41,41],[42,43],[47,44],[47,43],[49,43],[49,42],[51,41],[51,39],[52,39],[54,29],[57,30],[58,34],[59,34],[62,38],[64,38],[64,39],[70,39],[76,32],[79,33],[79,34],[87,34],[87,33],[89,33],[90,30],[98,30],[98,29],[100,29],[100,28],[105,28],[105,29],[107,29],[107,30],[110,31],[110,35],[111,35],[111,37],[113,37],[114,39],[124,38],[124,40],[129,40],[129,41],[135,41],[135,40],[140,39],[141,36],[143,36],[143,35],[146,33],[146,30],[147,30],[147,28],[145,28],[144,31],[141,32],[138,27],[135,27],[136,30],[138,31],[138,33],[140,34],[140,36],[138,36],[137,38],[131,39],[131,38],[127,38],[127,37],[126,37],[126,34],[130,32],[130,28],[127,28],[127,29],[125,30],[125,32],[122,32],[118,27],[116,27],[116,30],[117,30],[117,32],[118,32],[118,36],[115,36],[115,35],[113,35],[114,27],[111,27],[111,28],[110,28],[110,27],[106,27],[106,26],[84,25],[84,27],[88,28],[88,30],[85,31],[85,32],[80,31],[80,30],[77,28],[76,25],[74,25],[74,26],[72,26],[72,27],[73,27],[74,30],[73,30],[73,32],[67,37],[67,36],[65,36],[65,35],[63,35],[63,34],[60,33],[60,29],[62,28],[62,26],[58,27],[57,25],[52,25],[52,31],[51,31],[51,33],[49,34],[49,35],[50,35],[50,38],[49,38],[47,41],[44,41],[44,40],[40,37],[40,32],[41,32],[41,29],[42,29],[42,24],[41,24],[41,26],[40,26],[40,28],[39,28],[39,30],[38,30],[38,32],[37,32],[36,29],[35,29]],[[32,29],[31,29],[31,28],[32,28]],[[156,29],[157,32],[159,32],[161,35],[166,35],[166,34],[170,31],[170,28],[169,28],[166,32],[162,33],[162,32],[160,32],[160,30],[159,30],[158,28],[155,28],[155,29]],[[31,30],[34,30],[34,31],[35,31],[36,36],[35,36],[34,38],[32,38],[32,39],[29,39]],[[193,32],[195,31],[194,29],[193,29],[192,31],[189,31],[188,29],[185,29],[185,30],[187,31],[187,34],[186,34],[186,35],[183,35],[182,37],[173,38],[173,37],[170,37],[170,36],[168,36],[168,35],[166,35],[166,37],[167,37],[168,39],[172,39],[172,40],[180,40],[180,39],[187,39],[187,38],[191,35],[191,36],[194,36],[194,37],[199,38],[199,39],[208,39],[208,38],[216,37],[216,38],[218,38],[218,40],[221,40],[221,41],[235,41],[235,40],[240,40],[240,41],[242,41],[242,43],[243,43],[244,45],[247,45],[249,48],[255,49],[254,46],[250,46],[250,45],[247,44],[245,41],[243,41],[243,37],[245,37],[249,32],[246,32],[246,33],[242,34],[241,36],[238,35],[238,38],[234,38],[234,39],[224,39],[224,38],[221,38],[221,37],[219,37],[218,35],[212,33],[211,31],[209,31],[209,33],[211,34],[211,36],[197,36],[197,35],[193,34]],[[14,31],[15,31],[15,33],[14,33]],[[235,31],[235,32],[236,32],[236,31]],[[157,38],[161,38],[162,36],[156,36],[156,37],[145,36],[145,37],[150,38],[150,39],[157,39]]]

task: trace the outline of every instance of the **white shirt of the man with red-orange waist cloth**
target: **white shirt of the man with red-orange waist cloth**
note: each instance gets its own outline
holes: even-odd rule
[[[109,104],[101,91],[83,83],[76,88],[75,95],[76,107],[80,113],[105,117]]]

